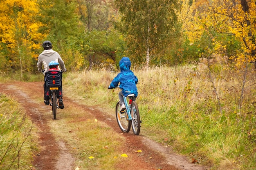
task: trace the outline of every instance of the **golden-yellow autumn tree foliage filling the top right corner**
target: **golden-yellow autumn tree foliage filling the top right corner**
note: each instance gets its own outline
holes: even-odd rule
[[[255,0],[186,0],[183,9],[183,26],[191,44],[206,36],[211,39],[211,51],[227,54],[236,66],[255,60]],[[232,46],[236,48],[227,52]]]

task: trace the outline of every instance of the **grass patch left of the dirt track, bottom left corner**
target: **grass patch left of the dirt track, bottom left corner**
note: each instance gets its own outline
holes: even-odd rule
[[[0,169],[2,170],[30,169],[34,152],[37,150],[32,122],[17,103],[0,93]]]

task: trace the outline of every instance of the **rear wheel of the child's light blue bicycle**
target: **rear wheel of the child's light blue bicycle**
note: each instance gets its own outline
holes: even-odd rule
[[[132,116],[132,131],[134,134],[139,135],[139,132],[140,132],[139,108],[135,101],[133,101],[131,104],[131,116]]]

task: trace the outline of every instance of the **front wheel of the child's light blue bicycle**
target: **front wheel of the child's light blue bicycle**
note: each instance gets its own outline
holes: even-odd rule
[[[120,113],[120,105],[119,102],[117,102],[116,105],[116,117],[117,117],[117,123],[119,128],[123,131],[123,132],[129,132],[130,128],[131,128],[131,121],[128,121],[127,118],[127,113]]]

